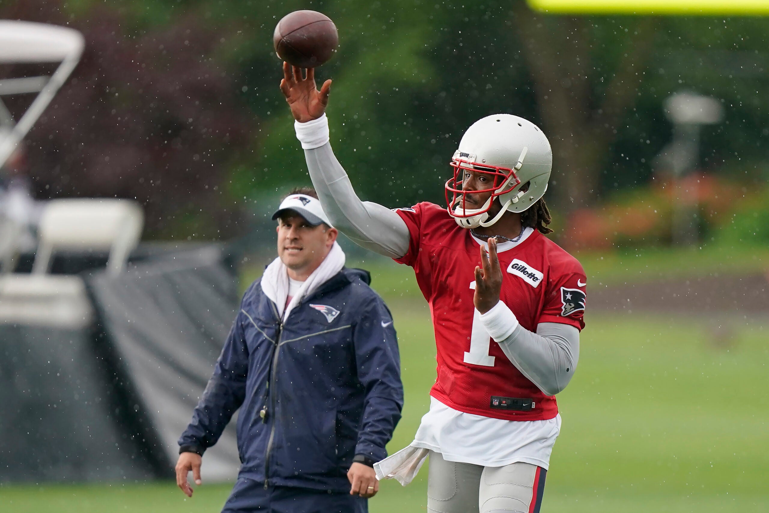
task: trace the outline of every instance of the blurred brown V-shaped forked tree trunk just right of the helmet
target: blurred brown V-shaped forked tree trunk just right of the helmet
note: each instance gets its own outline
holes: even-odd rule
[[[628,19],[608,35],[587,18],[535,14],[523,2],[511,21],[553,146],[560,206],[590,205],[601,190],[609,148],[638,98],[658,22]]]

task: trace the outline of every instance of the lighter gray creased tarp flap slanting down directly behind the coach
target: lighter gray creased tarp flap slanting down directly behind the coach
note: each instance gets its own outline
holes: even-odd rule
[[[175,462],[178,440],[204,390],[238,308],[235,275],[209,246],[151,258],[86,282],[105,335],[141,402],[158,447]],[[205,454],[208,480],[235,478],[235,419]]]

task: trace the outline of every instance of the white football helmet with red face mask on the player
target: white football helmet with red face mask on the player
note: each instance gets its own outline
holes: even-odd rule
[[[479,119],[464,132],[451,167],[454,178],[446,182],[448,213],[464,228],[491,226],[504,212],[524,212],[544,195],[553,152],[548,138],[534,123],[510,114],[495,114]],[[464,191],[465,171],[490,175],[493,186]],[[479,192],[491,192],[491,196],[481,208],[464,208],[464,195]],[[502,208],[490,220],[488,211],[494,198],[499,198]]]

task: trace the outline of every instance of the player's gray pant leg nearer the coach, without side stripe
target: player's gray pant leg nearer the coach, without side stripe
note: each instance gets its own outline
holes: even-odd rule
[[[478,488],[483,467],[446,461],[430,451],[429,513],[478,513]]]

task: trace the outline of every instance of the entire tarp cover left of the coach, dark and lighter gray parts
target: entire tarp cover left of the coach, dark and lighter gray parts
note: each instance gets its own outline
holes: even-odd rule
[[[71,255],[95,315],[81,328],[0,324],[0,482],[170,478],[176,440],[238,307],[218,245],[140,248],[121,275]],[[208,481],[238,470],[234,421]]]

